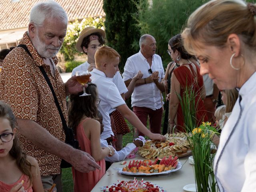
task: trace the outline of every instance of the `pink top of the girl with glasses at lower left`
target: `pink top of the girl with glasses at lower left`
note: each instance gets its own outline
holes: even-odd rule
[[[20,179],[18,181],[16,181],[13,184],[6,184],[2,181],[0,181],[0,192],[9,192],[11,190],[11,188],[13,188],[16,184],[22,182],[22,180],[24,180],[24,189],[26,190],[26,192],[33,192],[32,190],[32,186],[29,186],[29,178],[27,175],[22,174],[22,176],[20,176]]]

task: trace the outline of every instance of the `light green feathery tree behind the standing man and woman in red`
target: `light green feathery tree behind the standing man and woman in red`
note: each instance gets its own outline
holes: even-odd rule
[[[156,53],[165,66],[170,62],[166,52],[169,39],[182,32],[190,14],[205,2],[208,0],[140,0],[137,4],[138,14],[134,14],[134,18],[137,18],[140,33],[154,36]]]

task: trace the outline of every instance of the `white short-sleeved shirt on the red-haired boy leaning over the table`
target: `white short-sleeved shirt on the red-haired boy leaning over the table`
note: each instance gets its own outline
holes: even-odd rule
[[[102,123],[104,124],[104,131],[101,134],[102,139],[109,138],[111,135],[114,136],[110,124],[109,111],[111,108],[116,108],[120,105],[126,104],[118,91],[116,85],[106,77],[104,72],[94,69],[91,72],[92,83],[97,85],[98,94],[100,98],[100,104],[98,110],[103,116]]]

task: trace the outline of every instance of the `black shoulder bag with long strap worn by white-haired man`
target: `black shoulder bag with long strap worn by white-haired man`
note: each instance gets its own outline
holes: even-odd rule
[[[24,48],[24,50],[32,57],[32,55],[30,54],[30,52],[29,52],[29,50],[28,50],[26,45],[20,44],[20,45],[18,45],[18,47]],[[65,143],[70,145],[70,146],[72,146],[72,147],[74,147],[74,148],[76,148],[76,149],[79,149],[78,140],[75,139],[73,130],[67,126],[66,120],[65,120],[64,115],[62,113],[62,110],[60,108],[60,104],[58,102],[58,99],[56,97],[56,94],[54,92],[52,84],[50,82],[50,79],[47,76],[43,66],[40,66],[39,69],[42,72],[42,74],[43,74],[43,76],[44,76],[48,86],[50,87],[50,89],[52,91],[52,95],[54,97],[54,102],[55,102],[55,104],[56,104],[56,106],[58,108],[58,111],[59,111],[59,114],[60,114],[60,118],[61,118],[61,121],[62,121],[62,127],[63,127],[63,130],[64,130],[65,135],[66,135]],[[72,165],[70,163],[66,162],[64,159],[62,159],[60,167],[61,168],[68,168],[68,167],[72,167]]]

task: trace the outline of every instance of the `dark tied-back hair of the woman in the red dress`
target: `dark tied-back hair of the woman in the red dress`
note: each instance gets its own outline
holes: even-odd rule
[[[173,36],[168,44],[170,45],[170,47],[172,48],[172,51],[177,50],[178,52],[180,52],[180,57],[182,59],[190,59],[193,58],[194,60],[197,60],[195,56],[190,55],[184,48],[183,46],[183,42],[182,42],[182,37],[181,34],[177,34],[175,36]]]

